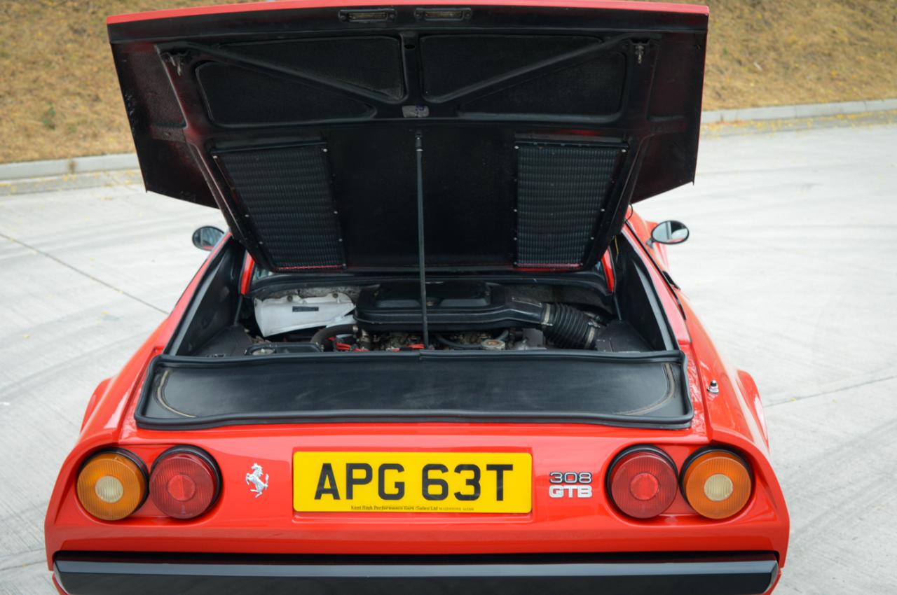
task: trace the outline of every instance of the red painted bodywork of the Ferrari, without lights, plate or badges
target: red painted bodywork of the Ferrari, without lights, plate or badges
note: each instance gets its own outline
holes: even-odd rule
[[[440,3],[399,0],[392,4]],[[477,0],[466,4],[707,14],[704,6],[613,1]],[[288,0],[125,14],[109,17],[109,23],[359,5]],[[687,298],[669,281],[665,246],[649,246],[649,235],[649,224],[632,212],[616,241],[635,246],[657,290],[675,342],[687,358],[694,414],[685,429],[478,422],[279,424],[176,432],[138,427],[135,408],[147,366],[176,332],[213,261],[213,252],[168,318],[118,375],[102,381],[91,396],[82,433],[59,472],[48,505],[45,530],[49,568],[53,569],[59,552],[73,551],[293,555],[772,552],[779,567],[783,566],[788,548],[788,511],[771,468],[756,386],[750,375],[728,367],[720,358]],[[222,250],[228,239],[225,237],[216,251]],[[608,287],[613,289],[610,261],[602,259]],[[248,295],[254,266],[252,257],[246,254],[239,280],[243,295]],[[707,390],[711,382],[716,382],[718,392]],[[150,467],[160,453],[176,444],[205,450],[222,471],[221,496],[208,513],[195,520],[178,521],[163,515],[147,500],[126,519],[104,522],[92,517],[78,502],[77,473],[91,453],[121,446]],[[733,448],[753,470],[753,494],[741,512],[722,521],[701,517],[681,494],[655,518],[627,517],[610,502],[604,478],[614,456],[636,444],[661,447],[677,469],[703,446]],[[292,504],[292,453],[297,451],[531,453],[533,507],[530,513],[521,514],[297,513]],[[250,493],[244,482],[246,471],[254,463],[261,464],[271,478],[264,501]],[[598,479],[594,497],[549,501],[549,473],[567,468],[593,473]]]

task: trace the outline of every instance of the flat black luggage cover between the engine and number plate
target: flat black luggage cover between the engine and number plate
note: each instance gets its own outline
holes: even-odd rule
[[[681,351],[533,350],[160,356],[135,418],[161,430],[364,421],[672,429],[692,414]]]

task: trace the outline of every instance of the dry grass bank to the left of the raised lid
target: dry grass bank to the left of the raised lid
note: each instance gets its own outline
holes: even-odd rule
[[[0,0],[0,162],[134,151],[106,17],[188,4]]]

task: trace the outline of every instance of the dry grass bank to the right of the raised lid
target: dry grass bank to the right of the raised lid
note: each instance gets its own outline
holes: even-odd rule
[[[704,108],[897,97],[895,0],[711,0]]]

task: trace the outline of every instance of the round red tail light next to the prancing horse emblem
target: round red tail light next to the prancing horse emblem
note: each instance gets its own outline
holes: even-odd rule
[[[150,498],[162,513],[192,519],[214,504],[221,490],[221,474],[207,453],[191,446],[175,446],[161,453],[150,473]]]

